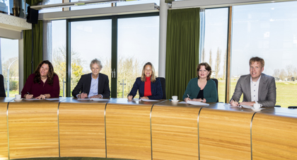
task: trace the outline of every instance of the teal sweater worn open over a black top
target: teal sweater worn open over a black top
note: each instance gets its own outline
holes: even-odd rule
[[[187,84],[187,89],[182,96],[182,100],[187,98],[187,94],[189,94],[190,98],[197,98],[198,93],[200,91],[200,87],[198,86],[198,78],[191,79],[189,84]],[[206,102],[216,102],[218,99],[218,94],[216,93],[216,83],[209,79],[207,81],[206,86],[203,89],[203,96],[206,99]]]

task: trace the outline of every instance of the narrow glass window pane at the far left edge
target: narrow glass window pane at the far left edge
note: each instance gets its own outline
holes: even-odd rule
[[[7,97],[19,94],[18,87],[18,40],[0,38],[1,73],[4,76],[4,88]],[[9,79],[9,81],[7,81]],[[9,83],[9,89],[8,89]],[[9,90],[9,91],[8,91]],[[9,95],[8,95],[9,94]]]

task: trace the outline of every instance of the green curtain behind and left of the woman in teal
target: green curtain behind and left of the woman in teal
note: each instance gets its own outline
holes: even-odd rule
[[[166,95],[182,101],[190,79],[197,77],[200,8],[168,10],[166,40]]]

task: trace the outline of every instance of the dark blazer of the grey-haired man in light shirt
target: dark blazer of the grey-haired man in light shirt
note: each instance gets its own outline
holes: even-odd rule
[[[72,96],[76,98],[79,93],[90,93],[92,74],[83,74],[79,79]],[[98,94],[102,94],[103,98],[110,98],[110,81],[108,76],[99,73],[98,79]]]

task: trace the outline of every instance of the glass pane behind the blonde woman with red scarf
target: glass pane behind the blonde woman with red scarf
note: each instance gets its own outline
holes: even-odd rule
[[[159,17],[119,19],[117,38],[117,97],[127,98],[146,62],[158,76]]]

